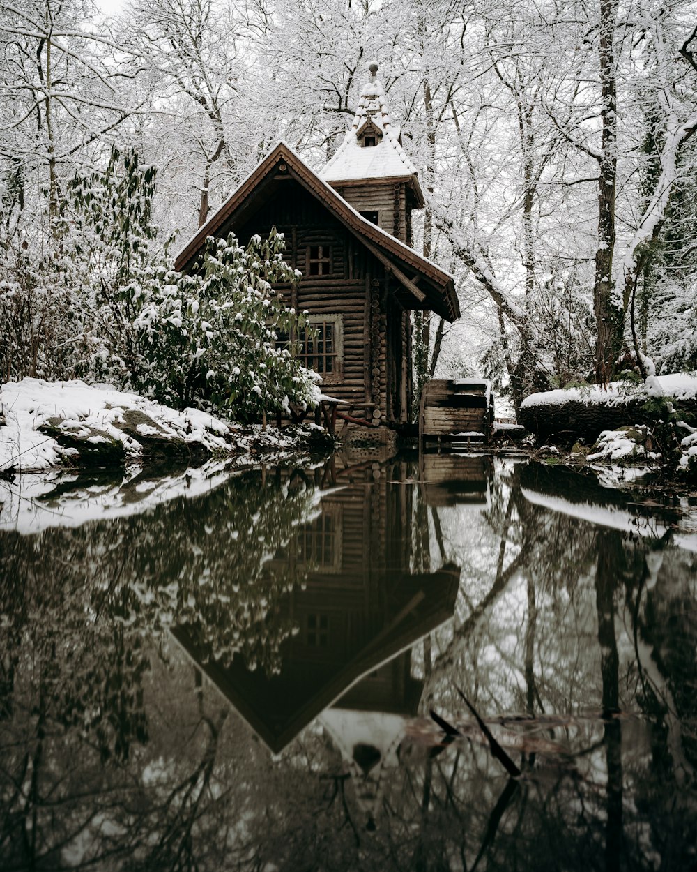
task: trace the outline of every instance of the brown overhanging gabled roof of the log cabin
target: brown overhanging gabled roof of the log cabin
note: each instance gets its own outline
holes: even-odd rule
[[[362,150],[374,151],[375,149]],[[418,255],[414,249],[410,249],[395,236],[363,218],[283,140],[267,153],[240,187],[179,250],[174,268],[179,270],[190,268],[206,242],[206,237],[222,232],[221,228],[225,225],[229,229],[230,223],[233,223],[241,209],[248,205],[261,182],[275,174],[281,164],[285,164],[284,172],[288,172],[295,181],[314,194],[317,200],[321,201],[338,221],[341,221],[382,262],[386,269],[389,269],[397,282],[412,297],[413,304],[410,303],[409,308],[434,311],[447,321],[454,321],[460,317],[452,276],[428,258]],[[416,283],[421,283],[421,286],[416,287]]]

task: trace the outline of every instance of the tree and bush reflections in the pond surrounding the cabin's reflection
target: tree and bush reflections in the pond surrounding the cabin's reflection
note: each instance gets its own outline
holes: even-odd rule
[[[273,494],[251,476],[205,509],[176,504],[161,519],[110,522],[101,537],[92,525],[3,552],[3,602],[14,607],[3,650],[13,691],[2,714],[10,814],[0,855],[20,868],[43,855],[57,868],[51,845],[84,830],[98,868],[471,870],[480,853],[477,868],[489,870],[648,870],[659,857],[662,869],[690,868],[694,783],[680,766],[694,764],[697,631],[694,588],[668,541],[532,505],[515,470],[493,482],[476,535],[457,509],[439,509],[444,554],[457,548],[464,589],[455,629],[430,640],[424,705],[461,723],[458,685],[484,715],[538,721],[512,731],[531,736],[518,750],[508,737],[524,770],[515,790],[474,735],[436,756],[405,740],[369,832],[326,733],[310,727],[271,759],[216,691],[195,683],[183,656],[160,658],[145,642],[145,628],[186,616],[232,653],[232,610],[256,634],[247,657],[273,668],[260,645],[273,652],[286,628],[261,619],[261,597],[272,603],[288,580],[261,570],[261,557],[310,502],[291,493],[284,514],[274,488],[267,521],[254,515]],[[112,549],[117,542],[128,548]],[[652,579],[646,555],[656,548],[664,559]],[[32,569],[37,554],[52,567],[51,586]],[[611,717],[617,710],[647,723]]]

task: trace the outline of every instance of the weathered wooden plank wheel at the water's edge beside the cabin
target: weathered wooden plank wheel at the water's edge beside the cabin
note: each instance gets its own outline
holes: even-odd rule
[[[490,442],[494,429],[491,384],[484,379],[434,378],[423,385],[419,439]]]

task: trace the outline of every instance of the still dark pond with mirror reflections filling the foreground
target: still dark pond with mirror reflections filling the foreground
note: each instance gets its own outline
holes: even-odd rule
[[[697,868],[689,501],[436,455],[2,488],[0,869]]]

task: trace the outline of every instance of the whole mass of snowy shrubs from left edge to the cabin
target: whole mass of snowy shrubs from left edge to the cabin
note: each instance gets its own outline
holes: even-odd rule
[[[209,238],[191,274],[175,272],[152,215],[155,181],[155,167],[114,146],[105,167],[65,186],[48,254],[5,250],[2,377],[109,381],[234,419],[314,405],[317,377],[294,356],[307,318],[272,287],[300,276],[282,235]]]

